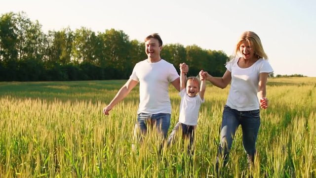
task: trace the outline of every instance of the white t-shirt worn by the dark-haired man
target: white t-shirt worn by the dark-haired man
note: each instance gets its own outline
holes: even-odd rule
[[[161,59],[150,63],[147,59],[138,62],[129,77],[139,82],[139,107],[137,114],[171,114],[169,83],[179,78],[172,64]]]

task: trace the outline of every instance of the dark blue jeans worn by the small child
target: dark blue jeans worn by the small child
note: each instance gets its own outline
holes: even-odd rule
[[[197,126],[190,126],[190,125],[186,125],[186,124],[183,124],[181,122],[178,122],[168,137],[167,145],[170,146],[175,134],[179,130],[179,127],[181,127],[181,130],[182,130],[182,137],[184,139],[189,138],[188,153],[193,154],[194,135],[195,135],[195,130],[196,130]]]

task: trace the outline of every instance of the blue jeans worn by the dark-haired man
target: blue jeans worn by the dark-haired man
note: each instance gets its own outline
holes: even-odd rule
[[[140,134],[145,135],[147,134],[147,129],[154,129],[155,127],[158,134],[161,134],[163,138],[166,138],[170,127],[170,117],[171,115],[166,113],[138,114],[137,126],[139,127]]]

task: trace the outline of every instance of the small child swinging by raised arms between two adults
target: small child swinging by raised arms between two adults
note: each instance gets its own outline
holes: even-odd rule
[[[189,137],[188,152],[193,153],[192,145],[194,142],[194,134],[197,128],[198,110],[201,103],[204,102],[205,80],[201,83],[197,77],[185,78],[185,72],[181,69],[183,64],[180,64],[180,115],[179,122],[173,128],[168,137],[167,145],[170,146],[175,133],[179,127],[182,128],[183,138]]]

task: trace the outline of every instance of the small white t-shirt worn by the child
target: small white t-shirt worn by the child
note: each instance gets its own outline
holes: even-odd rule
[[[198,119],[198,110],[200,105],[205,101],[197,94],[195,97],[190,97],[186,89],[182,89],[179,92],[181,97],[180,102],[180,115],[179,115],[179,122],[182,124],[196,126],[197,119]]]

